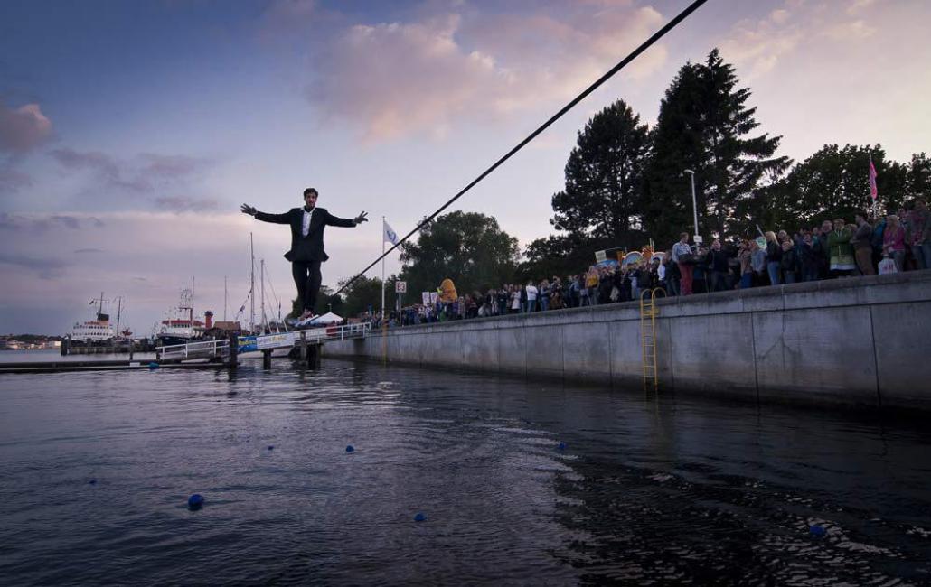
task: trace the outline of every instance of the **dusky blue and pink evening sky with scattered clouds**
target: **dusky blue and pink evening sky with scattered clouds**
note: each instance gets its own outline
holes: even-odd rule
[[[327,231],[335,286],[381,254],[383,216],[408,233],[686,5],[4,0],[0,333],[65,334],[103,292],[147,335],[192,282],[197,314],[236,319],[250,233],[286,311],[289,231],[241,204],[283,212],[312,186],[367,211]],[[906,161],[931,136],[929,21],[926,0],[709,0],[450,209],[545,237],[587,119],[624,99],[653,124],[713,47],[781,154],[880,142]]]

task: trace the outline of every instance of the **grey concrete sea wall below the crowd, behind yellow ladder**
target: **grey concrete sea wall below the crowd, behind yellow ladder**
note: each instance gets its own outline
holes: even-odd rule
[[[660,388],[931,409],[931,271],[660,299]],[[642,387],[637,302],[404,327],[325,356]]]

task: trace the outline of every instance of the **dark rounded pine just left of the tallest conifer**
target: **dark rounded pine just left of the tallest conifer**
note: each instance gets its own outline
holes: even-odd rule
[[[617,100],[587,122],[566,163],[565,189],[553,195],[550,223],[574,242],[621,246],[642,238],[640,184],[648,127]]]

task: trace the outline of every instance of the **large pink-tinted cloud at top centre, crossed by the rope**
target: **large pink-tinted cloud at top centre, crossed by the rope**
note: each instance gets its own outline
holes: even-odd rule
[[[662,23],[630,2],[567,3],[532,14],[472,11],[362,23],[338,32],[317,59],[307,97],[325,119],[351,120],[365,140],[442,137],[461,121],[497,121],[568,100]],[[654,47],[626,70],[654,73]]]

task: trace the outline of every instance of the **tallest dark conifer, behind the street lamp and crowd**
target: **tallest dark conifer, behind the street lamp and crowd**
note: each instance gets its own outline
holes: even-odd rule
[[[685,169],[695,171],[699,231],[722,234],[748,224],[741,218],[746,203],[789,167],[788,158],[775,156],[781,137],[750,136],[759,127],[756,108],[738,83],[734,66],[714,49],[704,63],[682,66],[660,102],[643,202],[645,227],[660,244],[692,226]]]

